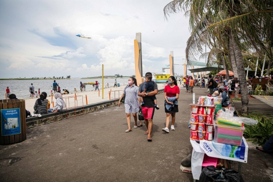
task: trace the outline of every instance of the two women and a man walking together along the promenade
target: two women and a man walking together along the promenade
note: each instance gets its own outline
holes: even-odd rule
[[[157,105],[157,100],[155,95],[158,93],[158,87],[155,82],[151,79],[152,73],[147,72],[145,74],[145,82],[142,83],[138,87],[138,83],[136,79],[130,77],[128,79],[128,86],[126,86],[123,90],[123,94],[121,95],[118,105],[120,106],[121,100],[123,96],[125,96],[124,106],[125,113],[127,118],[128,129],[125,132],[130,132],[131,130],[131,122],[130,116],[132,114],[134,118],[134,128],[142,127],[142,123],[140,121],[140,125],[137,126],[137,114],[142,109],[145,125],[147,127],[147,131],[144,133],[148,135],[147,140],[152,141],[152,130],[153,130],[153,116],[155,112],[155,108],[159,109]],[[168,78],[168,85],[166,85],[164,89],[164,107],[166,113],[166,126],[162,128],[162,131],[169,133],[169,123],[171,120],[171,130],[174,130],[175,123],[175,113],[178,112],[178,101],[179,98],[179,87],[177,86],[176,79],[171,76]]]

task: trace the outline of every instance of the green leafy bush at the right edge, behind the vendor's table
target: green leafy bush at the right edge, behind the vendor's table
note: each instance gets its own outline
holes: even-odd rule
[[[254,143],[258,143],[261,146],[264,145],[264,143],[270,138],[270,136],[273,134],[273,119],[258,119],[258,118],[252,118],[254,120],[258,121],[257,125],[244,125],[244,136],[248,138],[254,138]]]

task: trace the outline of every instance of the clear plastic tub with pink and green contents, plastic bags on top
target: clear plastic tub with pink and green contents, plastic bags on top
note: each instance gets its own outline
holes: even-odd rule
[[[245,129],[242,120],[239,117],[234,117],[233,112],[230,110],[218,112],[217,115],[216,123],[214,124],[214,141],[241,146]]]

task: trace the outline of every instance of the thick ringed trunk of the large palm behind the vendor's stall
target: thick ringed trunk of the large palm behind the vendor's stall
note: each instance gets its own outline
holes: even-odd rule
[[[238,76],[240,78],[240,88],[241,88],[241,101],[242,101],[242,108],[241,112],[242,115],[247,115],[248,113],[248,89],[247,89],[247,81],[246,81],[246,72],[245,72],[245,65],[242,56],[242,51],[238,47],[236,41],[234,40],[233,36],[230,36],[230,44],[234,50],[234,56],[236,58],[237,69],[238,69]]]

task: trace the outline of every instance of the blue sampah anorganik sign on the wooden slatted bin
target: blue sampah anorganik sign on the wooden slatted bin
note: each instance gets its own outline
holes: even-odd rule
[[[1,110],[2,136],[21,133],[20,108]]]

